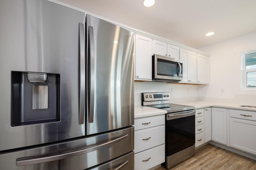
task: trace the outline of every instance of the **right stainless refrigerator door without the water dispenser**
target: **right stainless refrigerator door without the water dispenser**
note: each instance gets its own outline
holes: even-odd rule
[[[86,134],[134,124],[134,34],[86,15]]]

